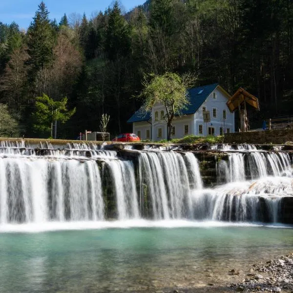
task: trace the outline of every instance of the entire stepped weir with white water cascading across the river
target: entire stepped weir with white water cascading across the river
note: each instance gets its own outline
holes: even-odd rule
[[[0,226],[127,219],[293,224],[288,146],[2,141]]]

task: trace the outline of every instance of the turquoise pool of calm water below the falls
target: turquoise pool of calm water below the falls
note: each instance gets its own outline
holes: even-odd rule
[[[1,233],[0,292],[173,292],[292,251],[292,229],[262,226]]]

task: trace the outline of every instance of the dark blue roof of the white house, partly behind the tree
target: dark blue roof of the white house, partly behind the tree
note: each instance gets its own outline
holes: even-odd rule
[[[217,87],[218,84],[208,84],[204,86],[198,86],[188,89],[189,104],[186,109],[183,109],[181,113],[183,115],[194,114],[197,109],[206,101],[211,92]],[[127,123],[148,121],[151,117],[151,112],[143,112],[142,108],[136,111]]]

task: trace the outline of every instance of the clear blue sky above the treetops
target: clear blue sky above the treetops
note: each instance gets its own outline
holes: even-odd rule
[[[143,4],[146,0],[121,0],[126,11],[131,8]],[[15,21],[20,25],[20,28],[27,28],[35,15],[38,5],[41,0],[0,0],[0,21],[3,23],[11,23]],[[113,0],[44,0],[50,19],[56,18],[59,22],[60,18],[66,13],[69,16],[71,13],[85,12],[87,18],[90,18],[92,13],[105,11],[108,6],[111,6]]]

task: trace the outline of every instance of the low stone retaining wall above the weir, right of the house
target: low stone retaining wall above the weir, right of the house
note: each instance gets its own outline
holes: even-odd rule
[[[276,144],[282,145],[293,142],[293,129],[278,129],[265,131],[249,131],[226,133],[224,142],[226,144]]]

